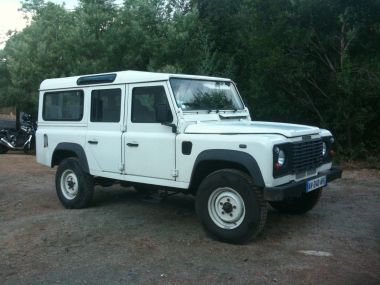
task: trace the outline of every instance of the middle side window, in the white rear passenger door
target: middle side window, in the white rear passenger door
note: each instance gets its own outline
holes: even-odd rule
[[[91,122],[120,122],[121,89],[91,92]]]

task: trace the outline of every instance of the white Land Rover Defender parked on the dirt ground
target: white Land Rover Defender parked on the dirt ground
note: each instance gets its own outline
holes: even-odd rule
[[[264,227],[267,202],[302,214],[329,181],[332,143],[317,127],[251,121],[226,78],[123,71],[41,83],[37,161],[58,166],[66,208],[114,182],[195,196],[208,233],[243,243]]]

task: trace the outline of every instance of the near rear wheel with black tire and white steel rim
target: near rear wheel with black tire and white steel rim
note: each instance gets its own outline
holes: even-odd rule
[[[59,200],[68,209],[87,207],[94,194],[93,177],[83,171],[74,157],[66,158],[59,164],[55,187]]]

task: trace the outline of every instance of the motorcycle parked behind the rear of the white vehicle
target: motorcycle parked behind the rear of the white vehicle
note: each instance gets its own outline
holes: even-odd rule
[[[24,113],[19,130],[0,130],[0,154],[6,153],[8,150],[23,150],[25,153],[35,152],[36,129],[31,116]]]

